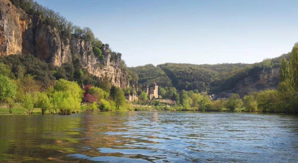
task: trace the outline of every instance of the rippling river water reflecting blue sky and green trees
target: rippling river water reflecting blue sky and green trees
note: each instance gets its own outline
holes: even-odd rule
[[[298,116],[84,112],[0,116],[0,162],[298,162]]]

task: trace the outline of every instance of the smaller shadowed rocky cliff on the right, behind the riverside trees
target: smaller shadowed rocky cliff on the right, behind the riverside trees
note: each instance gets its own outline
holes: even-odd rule
[[[278,85],[279,67],[272,69],[264,69],[254,74],[256,77],[246,77],[240,80],[232,90],[240,95],[247,95],[250,92],[261,91],[266,89],[276,89]]]

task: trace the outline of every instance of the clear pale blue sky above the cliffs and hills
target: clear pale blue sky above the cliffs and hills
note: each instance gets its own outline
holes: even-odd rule
[[[298,41],[297,0],[37,0],[107,43],[128,66],[254,63]]]

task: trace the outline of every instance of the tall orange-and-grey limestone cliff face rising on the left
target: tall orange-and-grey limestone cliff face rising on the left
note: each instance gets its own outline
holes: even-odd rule
[[[30,18],[9,0],[1,0],[0,56],[30,53],[55,66],[61,66],[64,62],[71,62],[77,55],[89,73],[97,77],[108,76],[114,86],[128,87],[127,72],[120,69],[121,58],[111,60],[110,50],[105,46],[101,50],[103,60],[94,56],[89,41],[63,39],[56,29],[45,25],[38,16]]]

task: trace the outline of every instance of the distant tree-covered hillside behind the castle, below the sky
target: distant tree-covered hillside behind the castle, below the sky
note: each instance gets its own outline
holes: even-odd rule
[[[290,53],[277,58],[264,59],[254,64],[186,64],[164,63],[157,66],[148,64],[129,68],[139,76],[140,84],[156,81],[161,86],[175,87],[177,90],[194,90],[219,92],[233,89],[246,77],[259,79],[259,72],[278,67],[283,57],[289,59]]]

